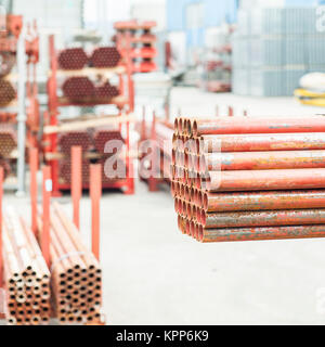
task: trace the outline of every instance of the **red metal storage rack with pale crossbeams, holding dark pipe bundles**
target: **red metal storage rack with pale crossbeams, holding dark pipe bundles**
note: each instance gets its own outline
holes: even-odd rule
[[[121,120],[117,120],[116,124],[121,127],[126,127],[126,168],[127,168],[127,177],[125,179],[118,179],[112,182],[103,182],[104,189],[125,189],[126,194],[134,193],[134,175],[133,175],[133,163],[130,157],[130,115],[133,112],[134,107],[134,91],[133,91],[133,80],[131,77],[131,60],[130,54],[127,54],[127,59],[125,60],[122,65],[118,65],[113,68],[94,68],[87,67],[81,70],[62,70],[58,68],[57,63],[57,51],[55,49],[54,36],[50,37],[50,57],[51,57],[51,70],[49,74],[48,80],[48,119],[44,119],[47,126],[49,128],[60,127],[60,108],[66,106],[74,107],[84,107],[84,106],[98,106],[98,105],[115,105],[119,115],[125,117],[120,117]],[[130,52],[130,36],[123,37],[123,46],[126,47],[127,52]],[[96,76],[96,75],[105,75],[107,76],[118,76],[119,78],[119,92],[120,95],[114,98],[112,100],[88,100],[82,103],[76,103],[67,100],[64,97],[58,97],[57,93],[57,77],[70,77],[70,76]],[[88,115],[89,117],[89,115]],[[81,117],[82,118],[82,117]],[[101,120],[101,119],[100,119]],[[103,120],[103,119],[102,119]],[[81,119],[82,121],[82,119]],[[109,119],[107,120],[109,123]],[[72,123],[73,124],[73,123]],[[109,123],[112,124],[112,121]],[[89,126],[89,128],[95,128],[96,126],[96,117],[93,117],[93,125]],[[87,126],[86,126],[87,128]],[[52,180],[53,180],[53,195],[60,196],[61,191],[70,190],[70,183],[61,183],[58,180],[58,159],[62,156],[58,153],[58,131],[47,131],[47,127],[44,127],[44,155],[46,162],[51,167]],[[82,184],[83,189],[89,189],[89,183]]]

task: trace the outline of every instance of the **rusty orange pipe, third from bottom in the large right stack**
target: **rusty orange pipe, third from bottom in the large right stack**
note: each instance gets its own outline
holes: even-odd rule
[[[208,211],[325,208],[325,190],[249,193],[200,192],[200,205]]]

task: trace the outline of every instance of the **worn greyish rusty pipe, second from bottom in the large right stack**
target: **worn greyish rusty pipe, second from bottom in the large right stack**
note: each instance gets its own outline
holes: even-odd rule
[[[206,229],[325,224],[325,209],[200,213]]]

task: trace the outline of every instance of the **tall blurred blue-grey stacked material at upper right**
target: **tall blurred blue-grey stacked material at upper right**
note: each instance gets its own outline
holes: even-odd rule
[[[325,73],[325,27],[316,8],[240,9],[232,37],[233,92],[292,95],[308,73]]]

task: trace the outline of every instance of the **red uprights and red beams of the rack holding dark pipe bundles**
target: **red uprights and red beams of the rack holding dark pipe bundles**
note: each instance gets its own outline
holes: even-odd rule
[[[46,114],[48,117],[48,124],[51,126],[57,126],[60,123],[60,107],[64,106],[96,106],[100,104],[115,104],[120,111],[120,115],[123,113],[127,116],[130,115],[134,110],[134,83],[132,79],[132,67],[131,67],[131,59],[127,59],[123,65],[125,75],[118,73],[119,76],[119,90],[123,98],[117,98],[116,100],[103,103],[84,103],[84,104],[75,104],[66,101],[65,99],[61,99],[57,95],[57,73],[58,64],[57,64],[57,52],[55,50],[54,36],[50,36],[49,38],[50,44],[50,57],[51,57],[51,72],[48,80],[48,95],[49,95],[49,114]],[[125,41],[127,50],[130,52],[131,49],[131,37],[127,36]],[[129,55],[129,54],[128,54]],[[120,66],[117,67],[120,70]],[[91,69],[91,68],[89,68]],[[109,68],[109,70],[114,72],[114,69]],[[63,72],[64,73],[64,72]],[[76,72],[78,73],[78,72]],[[123,77],[127,78],[127,92],[125,91],[125,81]],[[126,121],[126,166],[127,166],[127,177],[126,179],[118,180],[116,182],[107,182],[103,183],[104,189],[125,189],[125,194],[133,194],[134,193],[134,175],[133,175],[133,163],[130,158],[130,123]],[[121,128],[121,125],[120,125]],[[57,133],[53,133],[50,136],[44,136],[44,142],[47,147],[44,149],[44,153],[57,153]],[[72,185],[69,183],[62,184],[58,182],[58,160],[51,159],[48,160],[48,165],[51,167],[51,176],[53,180],[53,196],[60,196],[61,191],[70,190]],[[89,183],[83,183],[82,189],[89,189]]]

